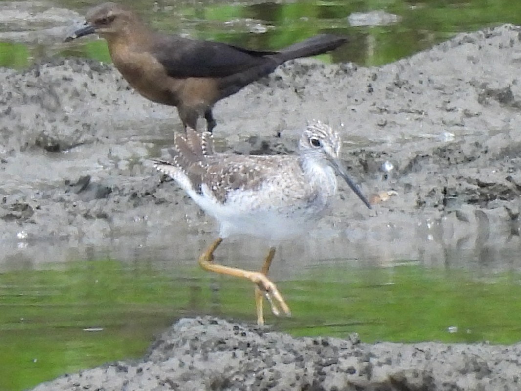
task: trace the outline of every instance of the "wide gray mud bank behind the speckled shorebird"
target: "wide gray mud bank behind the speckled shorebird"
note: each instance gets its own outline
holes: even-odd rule
[[[475,247],[500,262],[490,248],[521,245],[520,34],[508,25],[459,34],[378,68],[291,62],[220,101],[215,136],[232,152],[292,153],[306,119],[328,121],[341,129],[342,157],[364,192],[399,193],[369,213],[341,191],[320,224],[354,238],[353,258],[439,260]],[[193,253],[184,234],[165,233],[185,232],[187,215],[188,229],[208,231],[208,219],[192,218],[197,207],[147,166],[150,156],[169,157],[181,130],[175,108],[147,101],[112,66],[92,61],[0,76],[5,254],[16,258],[21,247],[34,262],[56,260],[32,246],[50,239],[127,251],[135,247],[128,233],[149,248],[172,242]],[[85,189],[71,186],[85,177]],[[330,255],[344,254],[343,244],[338,251]]]

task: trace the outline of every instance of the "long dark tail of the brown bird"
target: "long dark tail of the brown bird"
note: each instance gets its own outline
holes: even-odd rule
[[[348,42],[348,39],[345,36],[319,34],[284,48],[274,57],[280,58],[281,62],[285,62],[293,58],[316,56],[330,52],[346,42]]]

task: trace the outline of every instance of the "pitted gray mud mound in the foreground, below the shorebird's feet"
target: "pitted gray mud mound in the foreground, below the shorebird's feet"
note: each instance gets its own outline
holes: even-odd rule
[[[508,391],[521,345],[361,343],[293,338],[212,317],[181,319],[142,360],[65,375],[47,390]]]

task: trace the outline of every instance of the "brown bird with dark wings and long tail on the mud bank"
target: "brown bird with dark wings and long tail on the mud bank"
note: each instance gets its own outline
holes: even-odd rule
[[[107,40],[121,75],[151,101],[177,106],[185,127],[197,129],[204,116],[215,126],[214,104],[298,57],[326,53],[347,41],[320,34],[279,52],[254,51],[225,43],[192,40],[152,31],[128,8],[105,3],[92,8],[70,41],[97,33]]]

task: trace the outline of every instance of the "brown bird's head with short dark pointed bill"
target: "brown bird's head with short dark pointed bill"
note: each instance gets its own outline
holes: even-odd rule
[[[69,35],[65,41],[94,33],[108,41],[116,35],[129,34],[140,25],[139,18],[131,10],[116,3],[104,3],[91,8],[86,14],[84,27]]]

